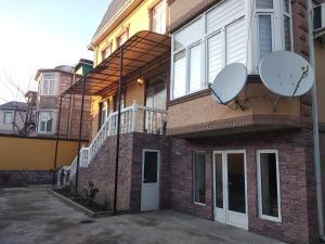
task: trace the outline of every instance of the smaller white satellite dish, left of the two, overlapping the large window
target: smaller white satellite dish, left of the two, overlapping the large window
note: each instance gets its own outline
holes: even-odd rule
[[[219,104],[226,104],[239,94],[246,81],[247,69],[244,64],[233,63],[225,66],[210,87],[213,100]]]

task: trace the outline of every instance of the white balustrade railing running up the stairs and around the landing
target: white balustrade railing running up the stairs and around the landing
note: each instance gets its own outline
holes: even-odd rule
[[[118,113],[110,113],[90,145],[80,150],[79,166],[81,168],[88,167],[107,137],[117,134],[117,120]],[[138,105],[134,101],[131,106],[121,110],[120,133],[143,132],[164,134],[166,123],[167,112],[165,110]],[[70,166],[65,168],[66,171],[69,171],[70,177],[76,175],[77,159],[78,157],[74,159]]]

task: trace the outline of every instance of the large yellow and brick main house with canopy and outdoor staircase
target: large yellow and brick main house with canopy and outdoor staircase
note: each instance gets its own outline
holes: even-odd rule
[[[96,201],[114,204],[120,82],[118,210],[173,208],[289,243],[320,241],[311,94],[277,101],[258,69],[273,51],[309,59],[306,1],[113,0],[89,48],[94,69],[66,91],[92,95],[80,192],[92,181]],[[315,48],[324,146],[321,37]],[[247,66],[248,82],[229,106],[216,104],[208,85],[231,63]],[[77,165],[65,168],[73,183]]]

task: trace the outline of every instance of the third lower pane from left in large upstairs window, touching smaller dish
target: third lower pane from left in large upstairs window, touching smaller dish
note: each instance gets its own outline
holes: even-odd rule
[[[208,39],[208,81],[212,84],[223,66],[221,33]]]

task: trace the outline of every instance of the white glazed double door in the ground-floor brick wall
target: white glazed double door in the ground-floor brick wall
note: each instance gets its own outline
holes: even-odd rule
[[[246,153],[213,152],[214,220],[248,229]]]

